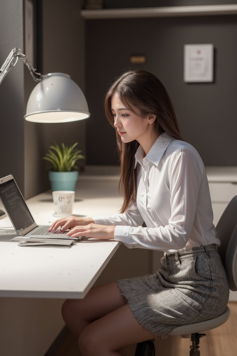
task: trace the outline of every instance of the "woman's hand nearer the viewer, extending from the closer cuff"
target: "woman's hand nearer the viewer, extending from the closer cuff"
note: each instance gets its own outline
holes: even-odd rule
[[[69,237],[88,236],[99,240],[114,239],[115,226],[98,225],[90,223],[83,226],[75,226],[66,235]]]

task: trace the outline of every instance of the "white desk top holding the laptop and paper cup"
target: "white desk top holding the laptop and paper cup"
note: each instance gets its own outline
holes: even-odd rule
[[[28,199],[27,205],[37,224],[56,219],[51,191]],[[79,178],[77,216],[111,215],[121,205],[118,176]],[[0,220],[0,229],[9,226],[8,217]],[[14,236],[15,230],[0,230],[0,297],[84,298],[120,244],[85,239],[71,248],[20,247],[10,241]]]

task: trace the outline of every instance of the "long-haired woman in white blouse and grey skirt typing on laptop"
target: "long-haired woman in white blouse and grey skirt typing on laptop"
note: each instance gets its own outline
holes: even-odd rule
[[[82,300],[64,302],[63,318],[84,356],[120,355],[122,346],[215,318],[229,293],[204,164],[183,140],[163,84],[149,72],[128,70],[108,90],[104,108],[117,134],[120,214],[70,216],[50,229],[71,227],[68,236],[114,238],[164,256],[155,274],[98,286]]]

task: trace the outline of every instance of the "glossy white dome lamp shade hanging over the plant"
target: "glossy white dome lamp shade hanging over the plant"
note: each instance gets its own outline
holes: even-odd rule
[[[54,123],[83,120],[89,116],[86,98],[70,76],[49,73],[43,75],[32,90],[24,117],[27,121]]]

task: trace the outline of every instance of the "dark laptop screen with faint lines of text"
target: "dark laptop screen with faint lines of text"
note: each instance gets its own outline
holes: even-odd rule
[[[0,184],[0,199],[17,232],[34,223],[31,213],[14,179]]]

